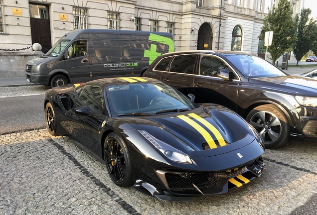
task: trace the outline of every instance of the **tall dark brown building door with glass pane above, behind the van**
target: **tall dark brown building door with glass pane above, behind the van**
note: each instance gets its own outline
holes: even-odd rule
[[[41,44],[46,53],[52,47],[48,5],[30,3],[29,8],[32,44]]]

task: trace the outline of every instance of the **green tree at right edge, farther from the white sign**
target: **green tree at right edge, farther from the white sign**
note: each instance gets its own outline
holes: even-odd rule
[[[294,55],[298,62],[313,47],[313,42],[317,40],[316,20],[310,18],[312,10],[310,8],[302,9],[300,15],[296,14],[297,23],[297,41],[294,46]]]

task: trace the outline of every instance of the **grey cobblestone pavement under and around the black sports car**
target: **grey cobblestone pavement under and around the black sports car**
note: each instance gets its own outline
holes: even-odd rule
[[[163,202],[111,182],[99,161],[46,129],[0,135],[0,214],[287,215],[317,193],[317,141],[266,150],[261,178],[228,194]]]

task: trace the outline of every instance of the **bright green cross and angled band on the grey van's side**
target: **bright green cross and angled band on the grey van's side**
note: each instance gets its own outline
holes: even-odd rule
[[[149,40],[168,45],[168,52],[174,51],[174,42],[168,37],[151,33]],[[150,58],[149,65],[151,65],[153,61],[160,55],[162,55],[162,53],[157,52],[157,45],[155,44],[151,44],[150,50],[144,50],[144,57]]]

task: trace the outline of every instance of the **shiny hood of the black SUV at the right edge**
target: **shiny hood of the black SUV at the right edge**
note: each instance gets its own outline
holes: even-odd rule
[[[299,96],[316,97],[317,95],[317,80],[305,77],[288,75],[268,78],[249,78],[249,83]]]

